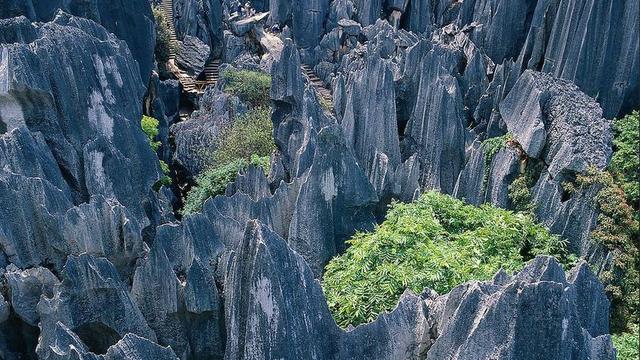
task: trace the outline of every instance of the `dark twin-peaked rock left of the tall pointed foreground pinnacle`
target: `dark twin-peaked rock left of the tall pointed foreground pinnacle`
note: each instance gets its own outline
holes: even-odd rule
[[[155,244],[138,267],[132,297],[159,344],[171,346],[181,358],[221,359],[222,310],[212,271],[194,259],[186,277],[182,273],[179,279],[163,247]],[[200,254],[200,249],[192,250]]]

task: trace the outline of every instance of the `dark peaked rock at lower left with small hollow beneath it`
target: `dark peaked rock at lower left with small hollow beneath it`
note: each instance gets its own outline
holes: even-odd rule
[[[156,340],[116,269],[104,258],[69,256],[62,282],[54,286],[53,297],[42,298],[38,312],[40,358],[55,353],[60,323],[92,351],[106,351],[128,333]]]

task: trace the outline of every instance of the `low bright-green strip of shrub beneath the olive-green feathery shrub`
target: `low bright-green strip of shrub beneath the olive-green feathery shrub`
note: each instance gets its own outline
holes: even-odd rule
[[[225,165],[204,171],[196,179],[196,186],[187,194],[182,215],[202,211],[204,202],[210,197],[224,194],[227,184],[235,180],[238,172],[245,170],[249,164],[261,167],[265,173],[269,172],[269,157],[257,155],[252,156],[249,161],[236,159]]]

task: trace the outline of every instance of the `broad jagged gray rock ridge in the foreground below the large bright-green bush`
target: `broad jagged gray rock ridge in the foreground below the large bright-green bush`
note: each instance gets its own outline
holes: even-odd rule
[[[584,298],[594,285],[594,297]],[[607,304],[586,264],[567,279],[554,259],[539,257],[510,280],[470,282],[434,300],[439,335],[427,359],[614,359],[599,322],[606,323]]]

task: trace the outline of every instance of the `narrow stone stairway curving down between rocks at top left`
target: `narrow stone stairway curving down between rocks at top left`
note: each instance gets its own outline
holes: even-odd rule
[[[169,69],[178,78],[182,84],[184,91],[190,94],[201,95],[209,85],[215,85],[219,78],[220,60],[209,59],[205,64],[204,75],[205,80],[196,80],[184,70],[176,65],[176,57],[178,53],[178,36],[173,24],[173,0],[163,0],[160,8],[164,12],[167,22],[169,23]]]

